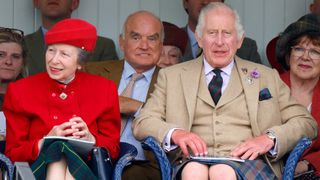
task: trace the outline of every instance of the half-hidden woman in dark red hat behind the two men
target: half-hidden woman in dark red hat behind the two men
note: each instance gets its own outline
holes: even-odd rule
[[[184,30],[172,23],[163,21],[162,24],[164,28],[164,41],[157,65],[164,68],[181,61],[188,43],[188,35]]]

